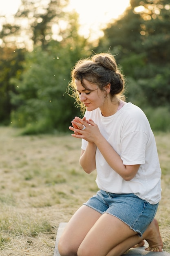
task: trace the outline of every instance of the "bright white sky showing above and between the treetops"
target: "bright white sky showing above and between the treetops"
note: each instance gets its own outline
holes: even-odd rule
[[[43,1],[43,0],[42,0]],[[79,13],[79,34],[88,37],[102,36],[100,29],[106,27],[106,24],[117,19],[128,7],[130,0],[70,0],[69,9],[75,9]],[[16,13],[21,0],[0,0],[0,15],[10,16]]]

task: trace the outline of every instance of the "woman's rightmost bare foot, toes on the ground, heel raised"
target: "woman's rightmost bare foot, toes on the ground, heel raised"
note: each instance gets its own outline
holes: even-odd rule
[[[149,247],[145,249],[146,251],[162,252],[163,243],[159,232],[159,225],[156,219],[150,223],[144,232],[144,238],[149,244]]]

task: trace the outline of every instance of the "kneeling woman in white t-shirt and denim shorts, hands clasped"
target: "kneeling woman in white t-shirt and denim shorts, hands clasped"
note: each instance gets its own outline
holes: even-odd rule
[[[96,54],[72,70],[73,95],[84,117],[75,117],[73,137],[82,139],[79,163],[97,170],[99,191],[73,215],[58,245],[61,256],[120,256],[149,243],[163,248],[154,219],[161,199],[161,169],[144,112],[126,103],[124,78],[111,54]]]

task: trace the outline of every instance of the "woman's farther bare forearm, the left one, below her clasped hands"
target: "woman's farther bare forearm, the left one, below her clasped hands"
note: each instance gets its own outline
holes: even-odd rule
[[[91,173],[96,169],[96,145],[94,143],[88,142],[86,150],[80,156],[79,163],[86,173]]]

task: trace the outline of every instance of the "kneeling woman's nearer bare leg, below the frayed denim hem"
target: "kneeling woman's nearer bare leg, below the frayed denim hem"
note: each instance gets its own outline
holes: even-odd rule
[[[123,221],[104,213],[94,224],[77,251],[78,256],[121,256],[142,240]]]

